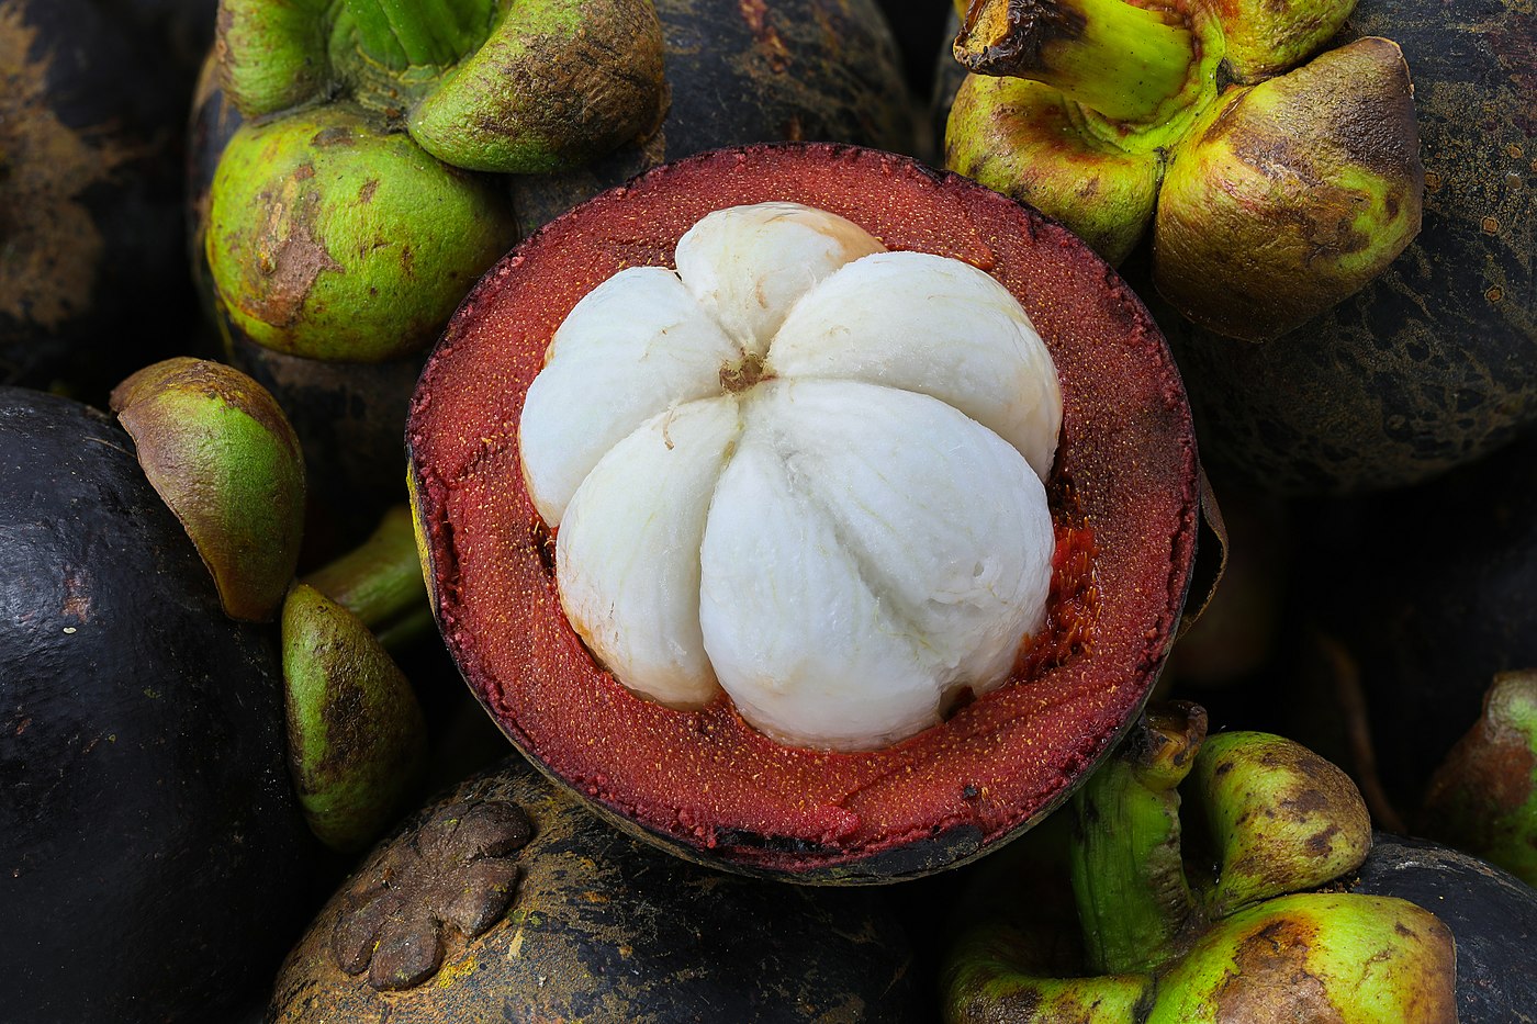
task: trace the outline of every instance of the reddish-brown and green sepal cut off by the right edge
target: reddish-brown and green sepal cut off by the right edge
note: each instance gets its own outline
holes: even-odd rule
[[[1425,793],[1426,835],[1537,886],[1537,669],[1502,672]]]

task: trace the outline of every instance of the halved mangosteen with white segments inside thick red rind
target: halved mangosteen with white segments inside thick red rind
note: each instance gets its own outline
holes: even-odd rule
[[[466,298],[407,443],[492,718],[747,873],[910,878],[1033,824],[1136,718],[1193,578],[1142,304],[1064,228],[868,149],[715,151],[552,221]]]

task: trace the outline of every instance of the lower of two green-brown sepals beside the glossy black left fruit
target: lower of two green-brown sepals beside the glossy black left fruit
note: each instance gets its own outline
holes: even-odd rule
[[[427,760],[421,707],[363,621],[307,584],[283,603],[289,772],[314,833],[367,847],[417,796]]]

